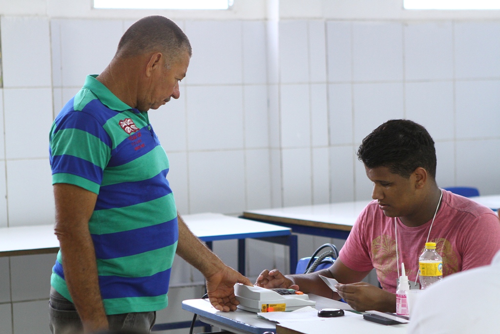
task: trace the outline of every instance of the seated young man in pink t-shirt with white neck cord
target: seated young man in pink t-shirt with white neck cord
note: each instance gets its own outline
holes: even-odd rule
[[[373,182],[373,201],[359,214],[338,259],[310,274],[264,270],[256,285],[342,297],[359,311],[394,312],[401,262],[413,285],[426,241],[436,243],[443,276],[491,262],[500,249],[500,221],[490,209],[437,187],[434,141],[424,127],[390,120],[363,139],[357,155]],[[361,282],[372,268],[382,289]],[[319,275],[341,283],[340,296]]]

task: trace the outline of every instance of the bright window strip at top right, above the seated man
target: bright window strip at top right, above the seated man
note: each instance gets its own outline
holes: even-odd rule
[[[403,0],[405,10],[498,10],[500,0]]]

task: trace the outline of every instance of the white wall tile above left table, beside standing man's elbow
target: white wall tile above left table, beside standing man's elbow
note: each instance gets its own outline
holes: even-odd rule
[[[54,223],[48,159],[7,161],[7,194],[9,226]]]

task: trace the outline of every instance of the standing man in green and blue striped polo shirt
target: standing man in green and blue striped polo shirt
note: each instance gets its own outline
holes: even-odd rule
[[[147,111],[179,97],[191,46],[172,21],[143,18],[114,58],[63,107],[50,131],[55,234],[50,279],[54,334],[148,332],[166,307],[174,254],[200,270],[211,304],[234,310],[251,285],[187,228],[175,209],[168,159]]]

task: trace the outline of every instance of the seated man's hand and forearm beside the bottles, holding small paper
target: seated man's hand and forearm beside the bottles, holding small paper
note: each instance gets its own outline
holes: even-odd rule
[[[396,295],[377,286],[357,282],[336,284],[338,294],[356,311],[376,310],[380,312],[396,311]]]

